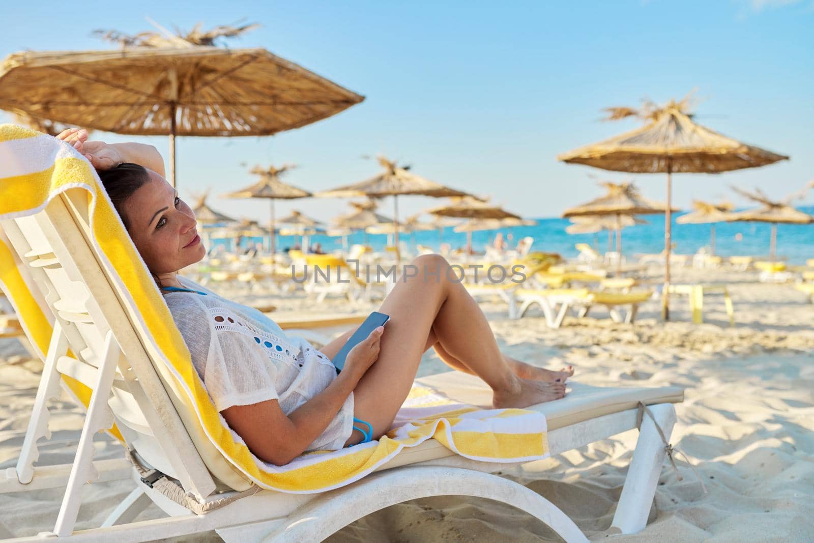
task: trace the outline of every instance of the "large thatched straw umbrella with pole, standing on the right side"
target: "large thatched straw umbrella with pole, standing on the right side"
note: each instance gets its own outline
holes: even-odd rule
[[[757,168],[789,157],[718,134],[698,125],[689,110],[690,95],[662,107],[646,102],[641,110],[610,107],[607,120],[638,116],[645,126],[615,138],[559,155],[569,164],[629,173],[667,173],[667,212],[664,214],[664,289],[662,316],[669,313],[671,206],[673,173],[721,173]]]

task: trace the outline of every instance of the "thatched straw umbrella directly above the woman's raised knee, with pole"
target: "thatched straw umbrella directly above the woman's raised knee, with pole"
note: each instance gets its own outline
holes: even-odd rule
[[[396,260],[400,260],[399,252],[399,195],[422,195],[433,198],[445,196],[466,196],[466,192],[440,185],[409,171],[409,166],[399,166],[393,160],[383,156],[378,157],[383,171],[370,179],[352,185],[339,186],[333,190],[324,190],[317,196],[346,198],[352,196],[367,196],[369,198],[393,197],[393,230],[396,245]]]

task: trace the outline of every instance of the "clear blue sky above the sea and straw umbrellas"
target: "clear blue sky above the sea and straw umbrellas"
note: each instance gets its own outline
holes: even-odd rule
[[[812,0],[717,2],[8,2],[0,55],[22,49],[110,47],[94,28],[182,29],[243,17],[262,27],[232,47],[263,46],[349,89],[363,103],[271,138],[179,138],[182,195],[253,182],[247,166],[295,163],[287,182],[322,190],[370,177],[383,153],[414,172],[495,201],[526,217],[552,217],[591,199],[598,179],[620,173],[558,163],[555,156],[637,126],[600,122],[602,107],[681,98],[698,88],[697,120],[790,155],[762,169],[678,175],[674,201],[728,197],[727,185],[769,195],[814,178]],[[9,24],[13,22],[13,24]],[[0,114],[0,119],[2,119]],[[6,118],[7,120],[7,118]],[[112,142],[116,135],[99,134]],[[166,138],[151,142],[166,153]],[[664,197],[660,174],[632,177]],[[812,202],[814,191],[807,197]],[[265,218],[267,205],[227,199],[213,207]],[[435,202],[400,199],[405,214]],[[279,203],[323,219],[343,200]],[[392,208],[389,199],[383,212]]]

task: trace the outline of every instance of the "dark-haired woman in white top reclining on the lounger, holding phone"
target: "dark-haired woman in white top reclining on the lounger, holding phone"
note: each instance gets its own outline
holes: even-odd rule
[[[423,274],[398,282],[379,309],[391,317],[387,334],[379,326],[352,348],[337,375],[330,358],[353,331],[317,351],[303,339],[287,337],[256,309],[178,275],[206,251],[194,213],[164,180],[155,147],[88,142],[79,129],[58,138],[72,143],[97,169],[212,401],[261,460],[283,465],[308,450],[379,439],[430,347],[449,366],[484,379],[495,407],[526,407],[564,396],[564,381],[573,370],[543,370],[504,357],[484,313],[438,255],[413,262]]]

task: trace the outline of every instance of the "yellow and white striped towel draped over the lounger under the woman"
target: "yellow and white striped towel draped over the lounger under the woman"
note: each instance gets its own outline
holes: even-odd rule
[[[287,493],[313,493],[352,483],[405,447],[435,439],[454,453],[487,462],[527,462],[549,454],[545,416],[525,409],[477,409],[450,401],[429,388],[414,387],[392,430],[378,441],[338,451],[307,453],[286,466],[261,462],[231,431],[212,404],[167,305],[112,208],[90,163],[64,142],[16,125],[0,125],[0,219],[36,213],[65,190],[85,190],[92,242],[107,274],[138,309],[133,325],[159,353],[185,403],[208,440],[246,480]],[[51,325],[29,286],[20,278],[13,252],[0,239],[0,287],[15,303],[28,336],[43,352]],[[166,373],[166,372],[165,372]],[[87,395],[80,396],[87,401]]]

